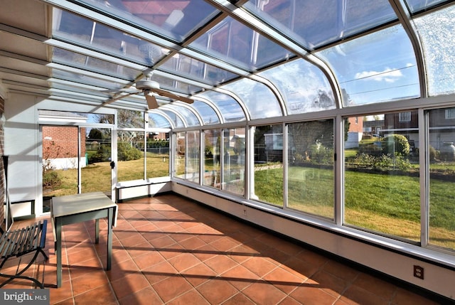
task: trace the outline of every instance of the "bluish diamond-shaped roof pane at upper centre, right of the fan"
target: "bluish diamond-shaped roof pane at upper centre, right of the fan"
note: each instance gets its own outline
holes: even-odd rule
[[[228,17],[190,44],[208,55],[246,70],[257,70],[293,53]]]

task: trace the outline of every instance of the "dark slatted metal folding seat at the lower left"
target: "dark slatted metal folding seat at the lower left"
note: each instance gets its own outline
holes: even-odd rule
[[[0,284],[0,288],[4,287],[4,285],[8,284],[14,279],[29,279],[32,282],[36,283],[41,289],[44,288],[43,283],[39,282],[38,279],[33,277],[27,277],[23,275],[23,272],[31,267],[31,265],[36,261],[36,258],[41,253],[45,260],[48,259],[48,256],[45,255],[43,251],[45,247],[45,233],[47,230],[47,220],[40,221],[38,223],[34,223],[33,225],[29,225],[26,228],[21,228],[17,230],[8,230],[4,232],[0,228],[0,254],[1,254],[1,264],[0,264],[0,271],[1,268],[4,267],[5,262],[11,257],[21,257],[23,255],[27,255],[29,253],[35,252],[33,258],[28,262],[26,267],[20,269],[21,262],[18,263],[18,267],[16,269],[16,274],[4,274],[0,272],[0,277],[6,277],[5,282]]]

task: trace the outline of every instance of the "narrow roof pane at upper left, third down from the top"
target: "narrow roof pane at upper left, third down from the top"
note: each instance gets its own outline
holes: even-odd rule
[[[117,63],[92,58],[91,56],[82,55],[62,48],[53,48],[52,61],[73,68],[102,73],[112,77],[121,77],[124,80],[134,80],[138,75],[142,74],[140,70],[134,70],[123,65],[118,65]]]

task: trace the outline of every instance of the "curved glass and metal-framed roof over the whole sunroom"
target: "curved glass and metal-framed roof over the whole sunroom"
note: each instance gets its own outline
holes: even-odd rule
[[[1,53],[7,83],[75,102],[153,110],[156,126],[245,124],[455,94],[454,1],[42,3],[52,7],[48,28],[0,28],[18,41]],[[27,45],[46,52],[20,50]],[[147,77],[164,90],[153,91],[159,111],[135,87]],[[195,102],[176,102],[186,97]]]

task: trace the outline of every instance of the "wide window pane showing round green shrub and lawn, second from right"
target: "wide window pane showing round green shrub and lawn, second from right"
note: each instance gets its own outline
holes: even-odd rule
[[[345,124],[344,223],[419,242],[417,111],[349,117]]]

